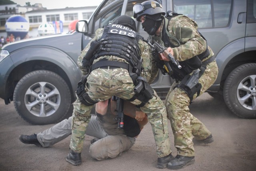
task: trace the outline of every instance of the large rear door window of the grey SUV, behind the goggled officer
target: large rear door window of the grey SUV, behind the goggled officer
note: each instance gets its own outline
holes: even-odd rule
[[[228,26],[231,5],[232,0],[173,0],[172,10],[195,20],[198,28],[215,28]]]

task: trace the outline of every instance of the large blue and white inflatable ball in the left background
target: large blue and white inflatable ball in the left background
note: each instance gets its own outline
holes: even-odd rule
[[[13,34],[14,38],[23,39],[28,34],[29,22],[20,15],[13,15],[6,21],[5,30],[8,36]]]

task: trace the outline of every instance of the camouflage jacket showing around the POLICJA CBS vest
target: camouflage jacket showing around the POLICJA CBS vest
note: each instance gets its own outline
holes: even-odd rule
[[[82,66],[82,60],[83,60],[85,54],[87,53],[87,51],[89,50],[91,42],[94,40],[100,40],[100,38],[102,37],[102,34],[103,34],[103,30],[104,30],[104,28],[99,28],[98,30],[96,30],[95,37],[88,43],[88,45],[84,48],[84,50],[82,50],[80,56],[78,57],[78,66],[83,75],[88,74],[88,71],[86,70],[86,68],[84,68]],[[138,44],[139,44],[139,48],[140,48],[140,55],[143,59],[142,65],[144,68],[142,73],[140,74],[140,76],[143,76],[144,78],[146,78],[148,83],[152,83],[158,74],[158,68],[155,66],[154,59],[153,59],[153,56],[151,53],[151,49],[148,46],[148,44],[142,40],[139,40]],[[101,56],[101,57],[97,58],[96,60],[94,60],[93,63],[98,62],[102,58],[106,58],[111,61],[119,61],[119,62],[128,63],[126,60],[119,58],[117,56]]]

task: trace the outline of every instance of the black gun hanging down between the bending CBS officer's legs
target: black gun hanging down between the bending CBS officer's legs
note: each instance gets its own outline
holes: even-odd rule
[[[124,127],[124,99],[120,97],[113,96],[113,100],[116,100],[116,118],[114,120],[117,121],[117,127]]]

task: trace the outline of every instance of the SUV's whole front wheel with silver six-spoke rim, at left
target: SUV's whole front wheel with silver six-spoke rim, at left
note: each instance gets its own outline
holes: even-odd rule
[[[48,70],[26,74],[16,85],[13,98],[18,114],[36,125],[61,121],[67,115],[71,103],[66,82]]]

